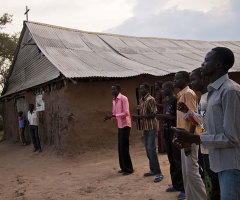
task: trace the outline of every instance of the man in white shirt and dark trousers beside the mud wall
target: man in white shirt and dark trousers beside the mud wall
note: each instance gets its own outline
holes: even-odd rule
[[[39,151],[42,152],[40,139],[38,135],[38,113],[34,110],[34,105],[29,104],[29,111],[28,111],[28,123],[30,129],[30,135],[32,138],[32,143],[34,146],[34,152]]]

